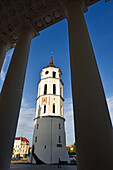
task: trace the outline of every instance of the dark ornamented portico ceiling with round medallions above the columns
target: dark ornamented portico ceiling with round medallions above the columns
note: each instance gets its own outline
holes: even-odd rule
[[[0,39],[11,47],[18,39],[18,30],[25,22],[38,32],[65,18],[61,0],[1,0]],[[84,0],[83,8],[99,0]],[[62,0],[68,5],[68,0]],[[35,35],[36,36],[36,35]]]

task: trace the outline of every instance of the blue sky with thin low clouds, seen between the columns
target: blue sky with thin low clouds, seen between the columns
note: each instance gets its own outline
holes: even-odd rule
[[[92,5],[85,14],[90,38],[102,78],[110,115],[113,122],[113,1],[104,0]],[[23,91],[22,105],[17,128],[17,136],[25,136],[32,144],[32,133],[36,110],[36,97],[40,71],[49,64],[53,51],[54,64],[63,72],[64,114],[66,118],[67,145],[74,143],[73,106],[69,61],[68,23],[64,19],[43,30],[32,40]],[[7,53],[0,74],[2,87],[13,50]],[[0,88],[1,88],[0,87]]]

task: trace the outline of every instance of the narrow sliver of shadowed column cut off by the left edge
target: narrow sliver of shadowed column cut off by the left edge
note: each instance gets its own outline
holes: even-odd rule
[[[4,41],[0,41],[0,72],[7,52],[7,46]]]

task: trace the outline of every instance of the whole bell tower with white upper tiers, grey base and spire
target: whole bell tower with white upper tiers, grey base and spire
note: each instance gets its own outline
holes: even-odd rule
[[[31,163],[69,163],[64,126],[64,99],[61,70],[50,64],[41,70],[38,83],[36,118]]]

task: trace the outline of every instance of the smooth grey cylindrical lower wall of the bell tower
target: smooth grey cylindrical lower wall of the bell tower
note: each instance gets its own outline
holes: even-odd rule
[[[59,158],[61,161],[69,162],[65,143],[64,119],[48,116],[38,118],[35,122],[33,145],[35,148],[34,153],[37,157],[46,164],[58,163]],[[59,141],[59,136],[61,141]],[[36,163],[34,159],[32,160],[32,163]]]

